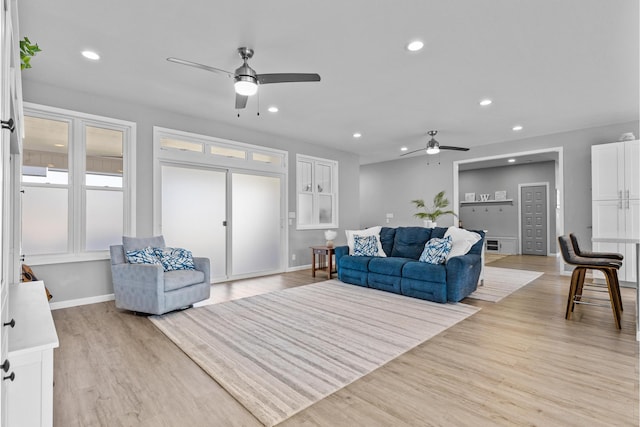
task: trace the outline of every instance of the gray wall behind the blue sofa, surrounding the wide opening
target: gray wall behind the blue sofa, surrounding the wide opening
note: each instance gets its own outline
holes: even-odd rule
[[[364,165],[360,168],[360,223],[366,226],[421,225],[413,217],[412,199],[433,199],[445,190],[453,195],[453,162],[456,160],[563,147],[565,233],[574,232],[580,241],[591,240],[591,145],[616,141],[624,132],[638,135],[638,122],[620,123],[553,135],[473,147],[467,152],[441,151],[439,162],[427,156]],[[427,165],[427,161],[430,162]],[[394,218],[387,224],[385,214]],[[438,225],[451,225],[455,218],[443,217]]]

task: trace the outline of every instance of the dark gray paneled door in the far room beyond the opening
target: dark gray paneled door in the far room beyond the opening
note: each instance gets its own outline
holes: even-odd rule
[[[547,187],[523,186],[520,190],[522,211],[522,254],[547,255]]]

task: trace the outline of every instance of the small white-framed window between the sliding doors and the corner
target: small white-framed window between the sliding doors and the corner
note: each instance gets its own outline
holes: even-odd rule
[[[298,229],[338,227],[338,162],[297,156]]]

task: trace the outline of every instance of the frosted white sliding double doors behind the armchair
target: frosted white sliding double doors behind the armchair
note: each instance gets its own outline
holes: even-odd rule
[[[209,258],[213,282],[284,270],[280,176],[171,164],[161,170],[167,246]]]

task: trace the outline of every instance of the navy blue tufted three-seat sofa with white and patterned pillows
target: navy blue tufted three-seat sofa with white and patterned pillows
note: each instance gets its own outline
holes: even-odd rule
[[[336,247],[338,279],[429,301],[458,302],[478,286],[484,232],[474,230],[482,238],[446,264],[419,262],[425,243],[446,232],[442,227],[382,227],[380,243],[386,257],[352,256],[348,246]]]

